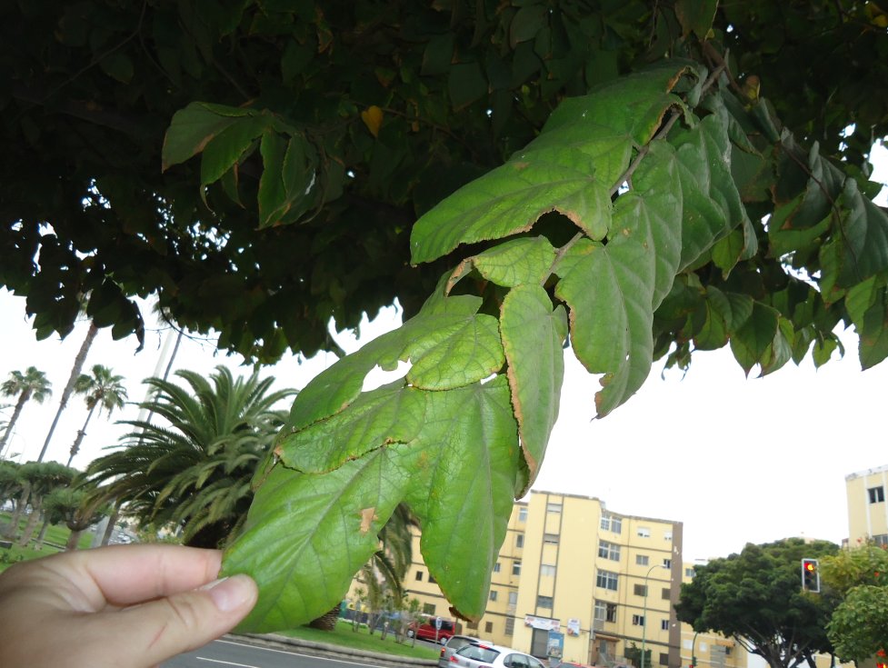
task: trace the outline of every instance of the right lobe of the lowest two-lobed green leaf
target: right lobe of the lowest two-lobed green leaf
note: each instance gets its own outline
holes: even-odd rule
[[[505,538],[521,458],[502,375],[430,392],[424,446],[405,497],[423,527],[423,561],[454,608],[478,620]],[[471,536],[471,540],[466,540]]]

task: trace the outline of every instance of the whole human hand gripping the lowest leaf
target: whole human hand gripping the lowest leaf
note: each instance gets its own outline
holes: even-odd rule
[[[113,545],[16,563],[0,575],[0,666],[145,668],[230,631],[256,602],[222,553]]]

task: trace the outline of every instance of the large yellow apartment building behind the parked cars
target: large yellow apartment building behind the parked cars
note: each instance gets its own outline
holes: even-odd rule
[[[701,668],[741,668],[733,641],[694,637],[675,618],[680,585],[693,573],[682,562],[682,529],[611,513],[597,498],[534,491],[514,505],[486,612],[464,632],[544,657],[552,630],[564,635],[564,661],[600,666],[628,663],[626,650],[644,647],[650,668],[687,666],[693,653]],[[424,613],[451,617],[418,536],[404,589]]]

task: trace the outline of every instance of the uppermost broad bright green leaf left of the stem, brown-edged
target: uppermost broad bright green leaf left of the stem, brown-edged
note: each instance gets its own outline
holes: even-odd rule
[[[550,211],[603,238],[610,228],[611,189],[633,147],[646,144],[666,110],[681,104],[669,91],[689,69],[684,63],[661,65],[566,101],[523,151],[416,222],[413,262],[434,260],[458,244],[527,231]]]

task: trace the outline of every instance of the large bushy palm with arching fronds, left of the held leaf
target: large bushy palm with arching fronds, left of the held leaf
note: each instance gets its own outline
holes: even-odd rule
[[[224,366],[206,378],[178,371],[189,387],[149,378],[155,392],[140,407],[164,424],[125,421],[124,449],[95,459],[86,479],[144,524],[172,523],[186,544],[217,547],[245,519],[250,480],[285,413],[274,409],[294,390],[269,394],[272,378],[234,379]]]

